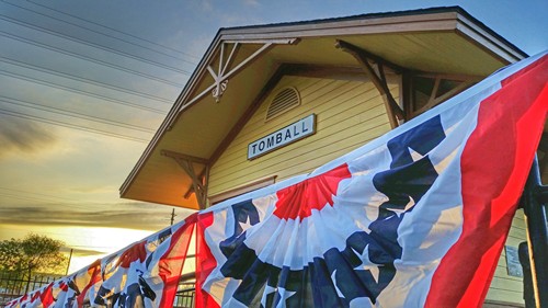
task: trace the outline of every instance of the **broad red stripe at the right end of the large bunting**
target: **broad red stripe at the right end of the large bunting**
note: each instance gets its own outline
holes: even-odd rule
[[[442,259],[426,307],[480,307],[512,224],[548,109],[548,56],[481,102],[461,161],[463,233]]]

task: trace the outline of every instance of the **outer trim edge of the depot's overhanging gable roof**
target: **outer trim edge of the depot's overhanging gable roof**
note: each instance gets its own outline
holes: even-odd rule
[[[310,26],[310,24],[315,24],[316,26]],[[255,39],[278,39],[287,37],[307,38],[320,35],[444,30],[457,31],[461,35],[476,41],[478,45],[488,49],[494,56],[504,59],[509,64],[527,57],[524,52],[520,50],[516,46],[512,45],[458,7],[356,15],[308,22],[220,28],[144,153],[122,184],[119,189],[121,196],[125,197],[140,169],[157,148],[165,132],[171,129],[172,125],[184,110],[193,105],[189,103],[192,100],[191,95],[194,94],[199,85],[202,77],[207,73],[207,66],[215,57],[222,42],[251,42]],[[194,103],[196,101],[194,101]]]

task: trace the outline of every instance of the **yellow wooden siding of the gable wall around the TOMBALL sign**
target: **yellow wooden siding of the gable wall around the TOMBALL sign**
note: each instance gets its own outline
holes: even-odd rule
[[[301,104],[265,122],[266,110],[278,90],[294,87]],[[399,88],[390,84],[398,100]],[[248,145],[311,113],[316,134],[249,161]],[[213,166],[209,195],[269,175],[277,181],[308,173],[390,130],[384,101],[370,82],[284,77],[240,134]]]

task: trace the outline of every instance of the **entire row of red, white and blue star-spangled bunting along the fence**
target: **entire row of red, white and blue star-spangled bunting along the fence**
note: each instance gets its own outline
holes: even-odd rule
[[[479,307],[548,110],[548,56],[311,174],[189,217],[8,307]]]

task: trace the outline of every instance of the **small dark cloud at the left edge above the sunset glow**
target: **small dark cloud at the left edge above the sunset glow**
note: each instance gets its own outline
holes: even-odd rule
[[[55,134],[30,121],[0,115],[0,158],[13,152],[38,152],[57,142]]]

